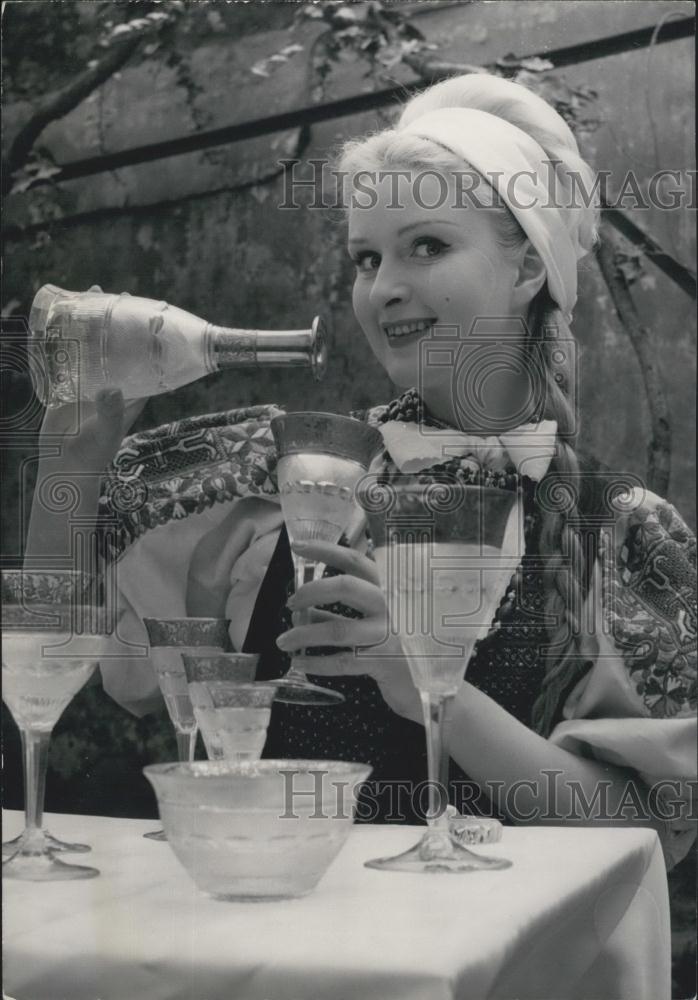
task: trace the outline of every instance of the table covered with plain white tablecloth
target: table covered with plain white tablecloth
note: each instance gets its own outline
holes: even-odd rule
[[[154,822],[49,816],[100,878],[4,885],[14,1000],[667,1000],[669,910],[656,835],[506,829],[500,872],[412,875],[363,862],[414,827],[355,827],[303,899],[199,893]],[[6,814],[4,836],[21,828]]]

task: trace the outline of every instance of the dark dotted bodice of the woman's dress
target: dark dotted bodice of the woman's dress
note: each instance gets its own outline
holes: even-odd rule
[[[415,419],[417,411],[389,410],[388,419]],[[454,460],[457,462],[457,460]],[[453,468],[439,466],[452,474]],[[434,470],[437,471],[436,469]],[[516,719],[530,726],[534,702],[544,674],[540,649],[548,641],[544,613],[543,566],[539,558],[541,518],[535,504],[536,484],[524,478],[526,552],[497,609],[487,636],[475,646],[467,679]],[[331,571],[327,571],[331,572]],[[250,623],[245,649],[261,652],[260,675],[280,676],[289,660],[275,645],[276,637],[291,627],[285,602],[291,592],[292,563],[288,538],[282,531]],[[332,606],[344,614],[358,614]],[[318,650],[318,653],[321,651]],[[330,652],[330,650],[327,650]],[[345,697],[330,707],[276,704],[272,712],[266,757],[297,757],[363,761],[371,764],[371,788],[364,818],[414,822],[419,809],[409,794],[398,792],[395,805],[387,782],[416,785],[427,777],[424,729],[394,713],[370,677],[314,677]],[[466,776],[452,765],[451,780]],[[479,807],[486,804],[480,802]]]

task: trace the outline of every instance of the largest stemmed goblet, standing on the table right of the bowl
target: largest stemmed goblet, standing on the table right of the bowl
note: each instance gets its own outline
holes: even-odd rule
[[[503,858],[461,846],[449,833],[439,785],[444,708],[458,691],[521,555],[518,491],[456,482],[367,476],[358,491],[375,546],[381,585],[419,691],[427,737],[427,831],[414,847],[369,868],[467,872],[508,868]]]

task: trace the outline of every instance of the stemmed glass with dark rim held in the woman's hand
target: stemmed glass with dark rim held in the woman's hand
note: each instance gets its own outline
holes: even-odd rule
[[[352,417],[334,413],[288,413],[274,417],[271,430],[279,455],[277,477],[281,509],[293,558],[295,589],[322,576],[324,563],[293,548],[296,542],[336,544],[360,527],[363,514],[355,489],[382,446],[380,433]],[[299,612],[297,624],[309,621]],[[284,701],[328,705],[344,701],[338,691],[311,684],[291,663],[283,677]]]

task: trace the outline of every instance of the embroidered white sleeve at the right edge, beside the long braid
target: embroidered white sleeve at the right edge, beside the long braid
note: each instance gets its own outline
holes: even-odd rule
[[[696,539],[654,494],[629,506],[589,592],[593,667],[551,740],[639,776],[671,867],[695,837]]]

